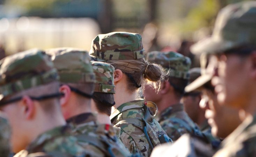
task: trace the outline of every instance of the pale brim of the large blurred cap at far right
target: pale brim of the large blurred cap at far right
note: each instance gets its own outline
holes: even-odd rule
[[[237,45],[231,41],[221,40],[219,38],[209,37],[192,45],[190,50],[193,54],[201,53],[221,53]]]

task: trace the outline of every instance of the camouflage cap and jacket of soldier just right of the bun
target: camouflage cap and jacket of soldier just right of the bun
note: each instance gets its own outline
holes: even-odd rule
[[[182,54],[153,51],[147,54],[147,60],[162,65],[171,77],[189,79],[191,61]],[[172,85],[175,86],[175,84]],[[159,113],[157,119],[171,139],[177,140],[184,133],[202,136],[198,126],[184,111],[183,104],[170,105],[162,113]]]

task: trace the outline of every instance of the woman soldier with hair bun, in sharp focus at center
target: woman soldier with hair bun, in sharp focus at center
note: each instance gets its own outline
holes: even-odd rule
[[[142,39],[137,33],[98,35],[92,42],[90,54],[115,67],[116,104],[110,118],[114,127],[121,128],[120,139],[130,152],[149,156],[155,145],[169,139],[144,100],[137,99],[137,94],[144,80],[160,83],[163,71],[158,65],[145,61]]]

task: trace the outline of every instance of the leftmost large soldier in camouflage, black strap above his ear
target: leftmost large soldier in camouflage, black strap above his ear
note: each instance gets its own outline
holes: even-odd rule
[[[33,49],[2,59],[0,76],[0,110],[12,128],[13,152],[21,151],[17,156],[37,152],[56,157],[83,155],[65,125],[59,76],[44,51]]]

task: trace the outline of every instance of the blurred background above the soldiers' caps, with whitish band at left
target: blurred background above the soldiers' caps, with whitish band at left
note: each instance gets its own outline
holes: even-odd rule
[[[112,31],[142,35],[146,52],[177,51],[211,35],[218,11],[243,0],[0,0],[0,59],[29,48],[78,47]]]

